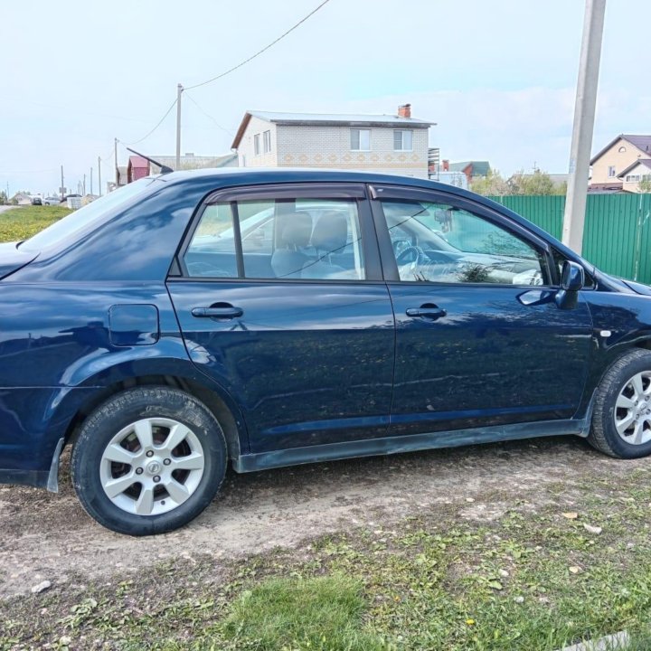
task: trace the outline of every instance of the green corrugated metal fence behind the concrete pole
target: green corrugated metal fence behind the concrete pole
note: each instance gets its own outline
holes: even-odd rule
[[[491,197],[561,238],[564,196]],[[651,194],[589,194],[584,258],[621,278],[651,284]]]

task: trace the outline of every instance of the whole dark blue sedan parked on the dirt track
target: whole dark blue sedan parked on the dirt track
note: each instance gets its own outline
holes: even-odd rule
[[[0,481],[169,531],[238,472],[558,434],[651,452],[651,288],[411,178],[146,178],[0,245]]]

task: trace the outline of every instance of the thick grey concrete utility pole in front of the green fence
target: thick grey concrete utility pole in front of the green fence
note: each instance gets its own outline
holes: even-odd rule
[[[599,60],[605,12],[606,0],[586,0],[579,80],[577,81],[576,104],[574,105],[570,176],[562,231],[563,244],[577,253],[581,252],[583,246],[583,224],[590,174],[590,149],[597,104]]]

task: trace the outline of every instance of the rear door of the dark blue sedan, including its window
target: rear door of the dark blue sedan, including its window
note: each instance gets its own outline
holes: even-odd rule
[[[386,434],[394,323],[363,185],[215,193],[167,287],[250,452]]]

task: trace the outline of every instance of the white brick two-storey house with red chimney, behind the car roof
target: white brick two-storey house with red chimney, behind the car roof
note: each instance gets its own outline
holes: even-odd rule
[[[397,115],[244,114],[232,143],[241,167],[328,167],[428,178],[433,122]]]

